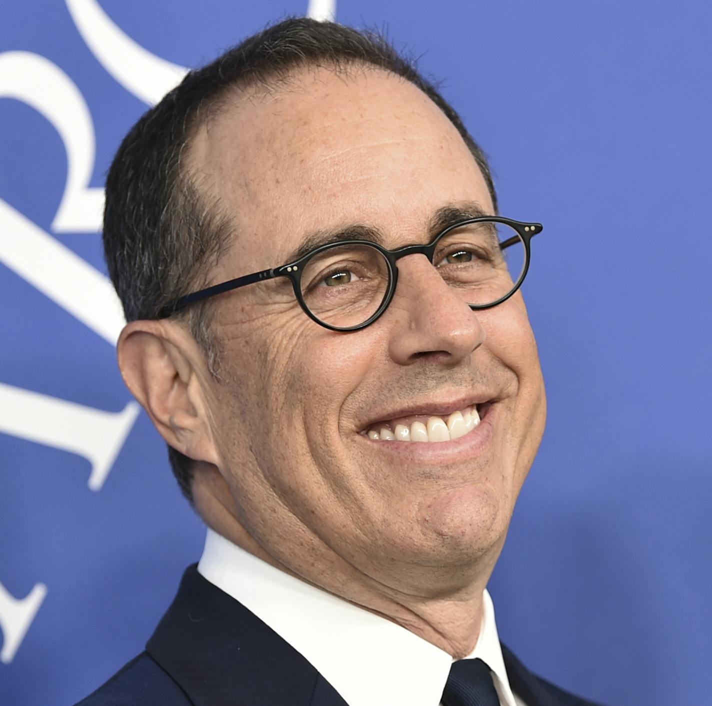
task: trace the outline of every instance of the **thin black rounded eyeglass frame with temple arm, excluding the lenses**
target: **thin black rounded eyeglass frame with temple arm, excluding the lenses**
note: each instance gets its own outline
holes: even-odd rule
[[[275,279],[276,277],[288,277],[292,283],[292,289],[294,290],[294,295],[299,303],[300,308],[302,311],[310,318],[312,321],[315,321],[315,323],[318,323],[319,326],[323,326],[324,328],[328,328],[330,331],[340,331],[340,332],[348,332],[348,331],[359,331],[361,328],[366,328],[366,326],[370,326],[372,323],[374,323],[377,318],[382,316],[384,311],[388,308],[389,304],[391,303],[393,296],[396,291],[396,286],[398,284],[398,266],[397,266],[397,261],[401,259],[402,257],[405,257],[407,255],[425,255],[429,262],[433,264],[433,258],[435,255],[435,248],[437,244],[440,242],[440,240],[445,237],[449,232],[461,228],[465,225],[469,225],[472,223],[488,223],[488,222],[493,222],[493,223],[502,223],[505,224],[511,228],[513,228],[520,239],[522,240],[524,244],[524,251],[525,251],[525,261],[524,261],[524,266],[522,268],[522,271],[519,275],[518,280],[515,282],[513,288],[508,291],[507,294],[504,296],[501,296],[499,299],[496,301],[493,301],[492,303],[488,304],[470,304],[468,303],[468,306],[473,310],[473,311],[482,311],[483,309],[488,309],[492,308],[493,306],[497,306],[498,304],[503,303],[504,301],[507,301],[511,296],[513,296],[516,291],[522,286],[522,283],[524,281],[525,276],[527,275],[527,272],[529,271],[529,263],[531,259],[531,246],[530,246],[530,241],[531,239],[538,233],[542,232],[543,230],[543,225],[540,223],[531,223],[531,222],[525,222],[525,221],[515,221],[514,219],[511,218],[506,218],[503,216],[478,216],[474,218],[467,218],[461,221],[458,221],[456,223],[453,223],[446,227],[445,229],[441,230],[434,239],[431,240],[426,245],[420,245],[420,244],[412,244],[412,245],[403,245],[397,249],[394,250],[389,250],[387,248],[384,248],[384,246],[373,242],[372,240],[364,240],[364,239],[349,239],[349,240],[341,240],[333,243],[326,243],[324,245],[320,245],[316,247],[313,250],[310,250],[308,253],[304,254],[301,256],[299,259],[296,259],[293,262],[288,262],[286,264],[273,267],[271,269],[266,269],[266,270],[261,270],[258,272],[253,272],[252,274],[245,274],[240,277],[235,277],[234,279],[229,279],[224,282],[220,282],[219,284],[214,284],[209,287],[205,287],[204,289],[199,289],[198,291],[192,292],[191,294],[186,294],[182,297],[179,297],[176,301],[170,303],[167,306],[164,306],[164,308],[159,311],[157,318],[168,318],[169,316],[172,316],[174,313],[177,313],[178,311],[182,311],[184,308],[187,306],[190,306],[193,303],[196,303],[197,301],[203,301],[204,299],[209,299],[210,297],[217,296],[219,294],[225,294],[226,292],[229,291],[234,291],[235,289],[239,289],[240,287],[247,286],[248,284],[255,284],[256,282],[261,282],[261,281],[266,281],[268,279]],[[513,244],[513,242],[510,242],[511,239],[508,239],[505,241],[505,244],[503,245],[503,248],[508,247]],[[384,256],[384,259],[387,261],[388,264],[388,269],[389,269],[389,287],[386,291],[386,294],[384,294],[382,302],[379,304],[378,308],[372,315],[367,318],[366,321],[363,323],[358,324],[357,326],[347,326],[340,328],[338,326],[331,326],[328,323],[325,323],[325,321],[321,321],[319,318],[315,316],[315,314],[310,311],[308,308],[306,302],[304,301],[301,287],[300,287],[300,282],[301,282],[301,276],[303,272],[303,265],[308,262],[310,259],[312,259],[315,255],[318,255],[320,252],[323,252],[325,250],[330,250],[334,249],[336,247],[342,247],[342,246],[347,246],[347,245],[367,245],[370,247],[373,247],[377,249],[382,256]],[[434,264],[433,264],[434,266]]]

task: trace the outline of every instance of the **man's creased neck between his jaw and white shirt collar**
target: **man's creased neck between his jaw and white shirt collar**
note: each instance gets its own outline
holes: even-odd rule
[[[214,496],[202,497],[200,502],[196,498],[196,507],[211,529],[271,566],[401,625],[455,659],[464,658],[474,649],[482,621],[483,591],[501,546],[492,552],[493,557],[483,557],[482,566],[451,581],[446,588],[428,590],[421,582],[409,589],[402,577],[377,581],[367,576],[320,541],[310,543],[308,552],[303,550],[303,542],[299,551],[283,543],[263,546],[245,529],[230,505]],[[398,588],[394,588],[396,585]]]

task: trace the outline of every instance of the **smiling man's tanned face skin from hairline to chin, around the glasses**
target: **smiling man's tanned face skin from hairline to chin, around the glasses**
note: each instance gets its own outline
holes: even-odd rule
[[[236,97],[190,160],[236,223],[212,283],[284,264],[314,232],[363,225],[393,249],[429,242],[441,209],[493,213],[454,126],[382,71],[313,69]],[[273,556],[309,576],[335,554],[382,586],[427,593],[496,561],[545,396],[520,294],[471,311],[424,256],[398,267],[387,311],[352,333],[311,321],[285,278],[216,300],[222,380],[209,410],[235,512]],[[366,433],[471,405],[483,419],[456,440]]]

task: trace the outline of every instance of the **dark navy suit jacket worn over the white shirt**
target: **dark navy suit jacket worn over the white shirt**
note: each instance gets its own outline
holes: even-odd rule
[[[502,651],[512,689],[527,706],[596,706],[531,674],[504,645]],[[346,706],[346,702],[291,645],[206,581],[194,564],[184,573],[146,651],[77,706]]]

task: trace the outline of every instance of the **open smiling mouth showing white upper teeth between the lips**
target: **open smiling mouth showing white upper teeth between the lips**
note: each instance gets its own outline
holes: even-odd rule
[[[375,442],[441,443],[470,435],[491,410],[494,400],[466,405],[448,414],[416,414],[379,420],[360,434]]]

